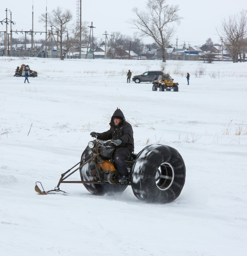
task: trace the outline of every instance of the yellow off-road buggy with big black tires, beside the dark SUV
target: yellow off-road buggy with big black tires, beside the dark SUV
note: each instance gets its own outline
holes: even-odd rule
[[[153,81],[153,91],[159,88],[160,91],[178,91],[178,83],[174,83],[170,74],[159,75],[157,80]]]

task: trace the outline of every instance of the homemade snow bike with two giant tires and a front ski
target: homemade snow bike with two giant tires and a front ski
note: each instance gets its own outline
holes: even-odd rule
[[[130,185],[138,199],[149,203],[171,203],[178,198],[185,183],[185,163],[176,149],[152,144],[130,155],[125,159],[130,179],[121,183],[113,160],[115,149],[113,141],[96,137],[88,143],[81,161],[61,175],[54,190],[45,191],[42,184],[36,182],[35,191],[39,194],[66,193],[60,190],[60,184],[82,183],[92,194],[104,195],[121,193]],[[77,170],[81,181],[68,181]]]

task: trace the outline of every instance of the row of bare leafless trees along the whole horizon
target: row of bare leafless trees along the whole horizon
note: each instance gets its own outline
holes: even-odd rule
[[[122,35],[120,32],[115,32],[110,40],[111,46],[114,45],[114,47],[117,47],[120,50],[126,50],[131,42],[131,49],[139,55],[144,47],[140,38],[149,36],[152,37],[154,43],[162,49],[162,59],[163,62],[165,62],[165,48],[175,33],[173,24],[180,24],[182,19],[182,17],[178,15],[178,11],[178,5],[168,5],[166,4],[166,0],[148,0],[146,2],[146,11],[140,11],[135,7],[132,10],[134,18],[128,21],[132,27],[138,30],[139,34],[136,33],[134,34],[134,38],[131,38]],[[62,12],[62,9],[58,7],[56,10],[48,13],[47,17],[48,24],[54,26],[58,31],[62,52],[62,46],[64,46],[63,35],[68,30],[67,24],[71,21],[72,14],[69,10]],[[45,14],[42,14],[40,21],[45,22],[45,20],[46,16]],[[73,26],[69,38],[67,36],[65,44],[67,50],[64,53],[64,56],[70,47],[78,43],[79,31],[78,26]],[[86,43],[87,26],[85,22],[81,31],[84,43]],[[223,19],[222,25],[217,32],[222,38],[225,47],[233,57],[233,62],[237,62],[238,56],[240,56],[241,59],[242,55],[244,55],[247,50],[247,11],[242,10],[239,14],[231,15],[228,19]],[[211,43],[212,41],[206,42],[206,45],[202,46],[202,50],[205,50],[203,48],[209,47]],[[64,56],[62,56],[61,59],[63,59]]]

